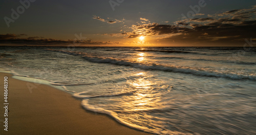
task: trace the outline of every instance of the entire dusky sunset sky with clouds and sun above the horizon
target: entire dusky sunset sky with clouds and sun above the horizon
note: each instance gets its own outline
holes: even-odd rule
[[[242,47],[256,41],[256,1],[0,2],[0,46]]]

